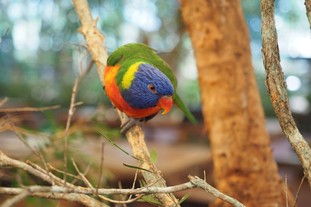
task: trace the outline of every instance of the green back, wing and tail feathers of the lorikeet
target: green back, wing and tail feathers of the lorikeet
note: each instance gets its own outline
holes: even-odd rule
[[[174,86],[175,92],[173,94],[173,101],[175,105],[183,111],[183,113],[193,124],[197,125],[197,119],[193,116],[193,114],[176,93],[177,81],[173,70],[169,64],[160,58],[155,52],[157,51],[152,47],[141,43],[126,44],[112,52],[107,60],[107,65],[120,65],[116,75],[116,84],[118,87],[121,87],[124,74],[131,65],[137,62],[145,62],[157,67],[169,78]]]

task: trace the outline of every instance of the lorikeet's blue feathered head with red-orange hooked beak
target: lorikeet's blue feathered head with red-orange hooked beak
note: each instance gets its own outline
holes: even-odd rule
[[[147,109],[161,105],[160,102],[166,104],[163,103],[166,100],[172,104],[173,93],[174,86],[163,72],[150,64],[142,63],[138,66],[131,86],[121,95],[131,107]],[[168,110],[165,107],[159,107],[165,109],[164,113],[170,110],[170,107]]]

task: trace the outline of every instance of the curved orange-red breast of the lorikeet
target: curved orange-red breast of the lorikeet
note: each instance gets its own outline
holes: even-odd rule
[[[143,118],[151,116],[160,111],[160,107],[150,107],[147,109],[137,109],[132,108],[126,103],[118,89],[118,86],[115,82],[116,74],[119,70],[120,65],[116,66],[106,66],[104,79],[105,79],[105,90],[110,101],[116,106],[120,111],[126,113],[127,115],[133,118]]]

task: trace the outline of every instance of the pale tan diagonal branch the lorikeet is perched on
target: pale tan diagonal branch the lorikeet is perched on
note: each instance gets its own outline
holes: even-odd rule
[[[98,17],[93,20],[91,16],[91,11],[89,5],[86,0],[72,0],[73,5],[77,11],[81,28],[78,30],[84,35],[86,43],[88,45],[88,50],[91,52],[92,58],[97,66],[97,71],[99,74],[100,81],[104,86],[104,68],[106,66],[106,62],[108,59],[107,51],[104,47],[104,36],[101,34],[100,30],[96,27]],[[123,123],[127,119],[127,115],[121,113],[117,110],[121,123]],[[126,137],[130,146],[132,148],[133,154],[135,157],[145,160],[150,163],[150,155],[148,148],[146,146],[146,142],[144,140],[145,136],[142,132],[140,126],[133,126],[130,128]],[[147,170],[155,170],[157,169],[153,166],[153,169],[150,165],[138,161],[138,167],[147,169]],[[152,183],[155,180],[155,176],[153,173],[149,173],[147,171],[141,171],[146,183]],[[162,178],[161,180],[162,186],[165,187],[165,180]],[[158,187],[160,187],[159,183],[156,183]],[[175,197],[170,197],[166,194],[156,194],[153,195],[155,200],[158,200],[165,206],[176,206],[177,200]],[[177,205],[178,206],[178,205]]]

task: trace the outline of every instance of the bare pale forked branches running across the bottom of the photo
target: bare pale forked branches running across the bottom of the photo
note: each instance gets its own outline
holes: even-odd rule
[[[9,158],[0,151],[0,168],[6,167],[6,166],[25,170],[28,173],[31,173],[53,185],[52,186],[23,186],[21,188],[0,187],[0,194],[19,195],[18,197],[17,196],[13,197],[9,199],[9,201],[7,200],[5,203],[2,203],[1,207],[12,206],[9,204],[15,204],[17,201],[20,201],[27,196],[75,201],[85,206],[108,206],[87,195],[97,194],[101,198],[104,198],[104,200],[109,200],[110,202],[129,203],[129,202],[133,202],[141,198],[142,196],[149,195],[149,194],[174,193],[174,192],[184,191],[184,190],[195,188],[195,187],[200,187],[204,189],[205,191],[210,192],[217,198],[220,198],[232,204],[233,206],[244,206],[243,204],[239,203],[237,200],[222,194],[221,192],[219,192],[218,190],[216,190],[211,185],[207,184],[204,180],[198,178],[197,176],[189,175],[188,176],[188,179],[190,180],[189,182],[186,182],[186,183],[183,183],[177,186],[171,186],[171,187],[146,186],[146,187],[137,188],[137,189],[116,189],[116,188],[113,188],[113,189],[98,188],[97,189],[97,188],[92,187],[92,185],[86,179],[85,175],[81,173],[79,169],[77,169],[77,165],[75,165],[75,167],[78,171],[79,179],[82,179],[83,181],[88,183],[87,186],[90,186],[90,187],[81,187],[81,186],[75,186],[68,182],[66,183],[63,179],[58,178],[53,173],[47,171],[46,169],[41,168],[37,164],[34,164],[28,160],[26,162],[21,162],[19,160]],[[107,199],[101,195],[135,195],[136,198],[128,200],[126,202],[122,202],[122,201],[115,201],[115,200]]]

